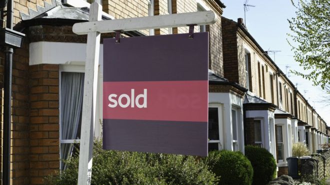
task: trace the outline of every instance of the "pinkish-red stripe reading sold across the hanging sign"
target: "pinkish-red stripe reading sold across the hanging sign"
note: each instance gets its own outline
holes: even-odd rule
[[[103,119],[207,122],[208,81],[103,82]]]

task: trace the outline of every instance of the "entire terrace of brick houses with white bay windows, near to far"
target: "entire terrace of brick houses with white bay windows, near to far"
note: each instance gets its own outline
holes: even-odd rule
[[[25,36],[12,58],[10,182],[43,184],[45,176],[65,170],[60,159],[71,156],[74,142],[79,141],[86,35],[72,33],[72,25],[88,21],[90,4],[85,0],[12,2],[13,29]],[[292,143],[304,142],[316,152],[327,142],[326,123],[248,33],[242,19],[220,18],[225,8],[220,0],[102,0],[102,8],[102,19],[203,10],[218,16],[215,24],[194,28],[209,32],[208,150],[244,153],[244,145],[258,145],[273,154],[278,174],[283,174]],[[1,19],[8,20],[5,9]],[[177,27],[127,31],[121,36],[187,32],[188,27]],[[100,122],[102,53],[101,45],[96,107]],[[5,58],[1,50],[1,82]],[[100,122],[95,137],[101,135]]]

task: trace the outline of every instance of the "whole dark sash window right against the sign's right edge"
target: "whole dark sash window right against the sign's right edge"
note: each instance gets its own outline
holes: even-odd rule
[[[219,107],[208,108],[208,151],[219,150]]]

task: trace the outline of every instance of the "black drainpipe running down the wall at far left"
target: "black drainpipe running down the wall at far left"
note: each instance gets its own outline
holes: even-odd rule
[[[8,0],[6,27],[12,29],[13,0]],[[4,104],[3,104],[3,154],[2,154],[2,185],[10,183],[10,130],[11,130],[11,71],[13,48],[5,47],[4,62]]]

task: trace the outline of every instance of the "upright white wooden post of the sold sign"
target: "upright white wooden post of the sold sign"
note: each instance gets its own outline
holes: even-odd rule
[[[90,5],[89,21],[101,20],[101,5]],[[98,73],[99,32],[87,34],[85,78],[82,99],[81,138],[79,151],[78,185],[90,185],[95,124],[95,102]]]

